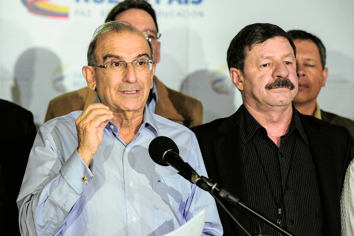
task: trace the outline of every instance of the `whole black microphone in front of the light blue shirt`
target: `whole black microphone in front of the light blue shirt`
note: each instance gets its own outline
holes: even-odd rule
[[[199,188],[208,191],[209,185],[179,156],[179,149],[172,139],[165,136],[154,138],[149,144],[151,159],[160,166],[172,166],[178,174]]]

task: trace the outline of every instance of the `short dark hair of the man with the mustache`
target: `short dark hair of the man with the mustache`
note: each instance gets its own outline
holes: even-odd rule
[[[268,39],[274,37],[286,38],[296,56],[296,47],[289,34],[287,34],[278,25],[269,23],[255,23],[247,25],[241,29],[240,32],[230,42],[230,46],[227,50],[227,66],[230,68],[236,68],[245,72],[245,59],[248,51],[252,50],[253,44],[262,44]]]

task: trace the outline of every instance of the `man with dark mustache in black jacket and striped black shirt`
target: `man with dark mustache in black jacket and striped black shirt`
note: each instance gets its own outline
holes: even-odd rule
[[[300,114],[296,48],[280,27],[247,25],[227,63],[243,104],[192,128],[209,178],[294,235],[341,235],[340,195],[352,159],[347,129]],[[228,203],[252,235],[279,235]],[[224,235],[246,235],[219,209]]]

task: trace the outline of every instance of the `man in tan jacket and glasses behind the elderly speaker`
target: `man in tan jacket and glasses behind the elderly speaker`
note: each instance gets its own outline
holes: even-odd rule
[[[144,0],[125,0],[116,5],[108,14],[105,22],[126,21],[137,27],[154,47],[155,62],[160,61],[160,42],[156,15],[151,5]],[[147,100],[152,113],[175,121],[187,127],[201,125],[203,121],[202,103],[183,93],[167,88],[154,76],[153,88]],[[89,87],[65,93],[54,98],[48,105],[45,122],[72,111],[84,110],[93,103],[96,92]]]

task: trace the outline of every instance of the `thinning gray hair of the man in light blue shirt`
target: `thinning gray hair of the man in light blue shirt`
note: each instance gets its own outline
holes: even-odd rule
[[[133,25],[129,24],[128,22],[125,21],[110,21],[106,22],[95,30],[95,33],[93,33],[92,40],[90,42],[90,45],[87,49],[87,65],[94,66],[96,69],[97,65],[97,60],[95,56],[95,50],[96,50],[96,42],[97,40],[105,33],[113,31],[115,33],[121,34],[124,32],[131,32],[131,33],[137,33],[141,35],[142,37],[145,38],[145,36]],[[149,47],[150,47],[150,53],[151,53],[151,58],[154,60],[154,49],[153,45],[151,42],[147,39]]]

